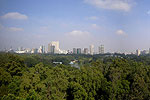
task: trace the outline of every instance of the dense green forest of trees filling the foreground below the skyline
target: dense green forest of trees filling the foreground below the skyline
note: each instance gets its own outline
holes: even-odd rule
[[[150,55],[0,53],[0,99],[150,100]]]

